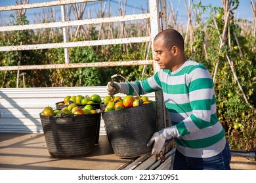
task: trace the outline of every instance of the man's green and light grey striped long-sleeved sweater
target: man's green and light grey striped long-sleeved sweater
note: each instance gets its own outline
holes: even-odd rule
[[[207,69],[186,61],[174,72],[160,70],[154,76],[131,82],[140,95],[163,91],[177,150],[184,156],[206,158],[219,154],[225,144],[224,129],[216,114],[214,84]],[[130,95],[137,95],[129,87]],[[203,152],[203,153],[202,153]]]

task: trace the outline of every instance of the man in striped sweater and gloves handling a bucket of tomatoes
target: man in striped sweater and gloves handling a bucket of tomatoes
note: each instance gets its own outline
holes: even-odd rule
[[[171,127],[154,133],[152,152],[158,154],[165,139],[176,142],[173,169],[230,169],[230,148],[217,118],[214,84],[209,71],[186,59],[184,40],[175,29],[154,38],[154,60],[160,71],[150,78],[131,82],[139,95],[163,91]],[[108,94],[136,95],[128,83],[108,82]]]

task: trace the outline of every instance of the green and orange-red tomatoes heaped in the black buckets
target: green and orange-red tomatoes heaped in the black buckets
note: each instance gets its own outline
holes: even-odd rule
[[[132,95],[120,96],[105,96],[103,99],[99,95],[93,94],[91,97],[82,95],[66,96],[64,100],[57,103],[58,106],[63,107],[61,109],[54,110],[52,107],[45,107],[41,115],[43,116],[56,116],[56,117],[68,117],[77,116],[81,114],[96,114],[101,112],[99,108],[95,108],[94,104],[103,104],[104,112],[121,110],[128,107],[138,107],[140,105],[146,105],[152,103],[146,95],[134,97]]]

